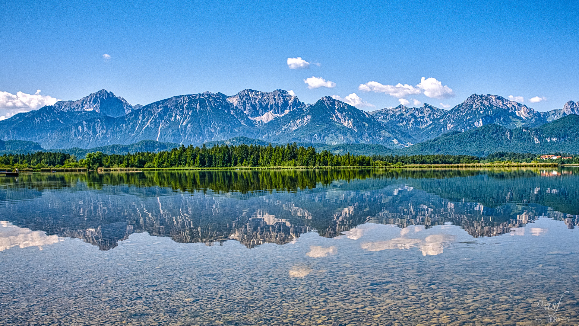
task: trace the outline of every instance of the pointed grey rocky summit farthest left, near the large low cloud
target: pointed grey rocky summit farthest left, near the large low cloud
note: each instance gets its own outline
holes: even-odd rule
[[[95,111],[109,117],[122,117],[134,110],[133,106],[120,96],[101,89],[76,101],[59,101],[54,103],[58,111]]]

